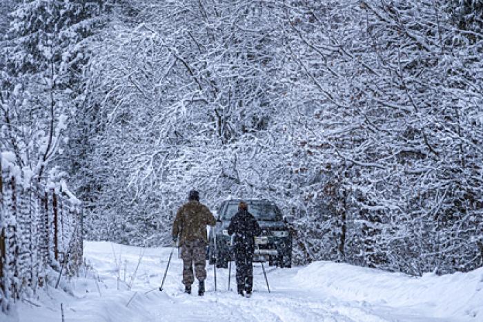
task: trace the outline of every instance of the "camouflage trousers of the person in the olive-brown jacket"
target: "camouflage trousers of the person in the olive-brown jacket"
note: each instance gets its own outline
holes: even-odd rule
[[[193,264],[198,281],[206,278],[206,243],[204,240],[186,240],[181,246],[181,259],[183,260],[183,284],[189,286],[195,281]]]

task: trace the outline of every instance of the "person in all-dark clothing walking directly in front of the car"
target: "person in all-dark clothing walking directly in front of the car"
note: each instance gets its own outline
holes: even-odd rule
[[[248,205],[240,202],[238,212],[231,218],[228,234],[234,236],[235,265],[237,265],[238,294],[250,296],[253,287],[253,252],[255,236],[262,234],[255,217],[248,212]]]

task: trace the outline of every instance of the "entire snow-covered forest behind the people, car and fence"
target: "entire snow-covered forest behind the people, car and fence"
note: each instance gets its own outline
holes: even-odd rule
[[[295,216],[295,263],[483,266],[482,0],[2,0],[0,150],[84,236],[165,245],[190,189]]]

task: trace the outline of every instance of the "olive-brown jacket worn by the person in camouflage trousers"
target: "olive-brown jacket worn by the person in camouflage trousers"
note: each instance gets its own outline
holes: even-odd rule
[[[216,225],[216,219],[210,209],[200,202],[189,201],[178,209],[175,222],[172,224],[172,236],[179,236],[179,245],[184,245],[186,240],[197,239],[208,243],[207,225]]]

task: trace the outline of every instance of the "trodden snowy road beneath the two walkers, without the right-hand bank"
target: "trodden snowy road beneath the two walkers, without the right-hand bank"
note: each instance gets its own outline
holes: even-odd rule
[[[35,316],[34,321],[39,322],[60,319],[60,302],[64,305],[66,321],[465,321],[435,317],[426,310],[431,305],[426,304],[391,307],[377,299],[368,303],[354,300],[357,297],[349,299],[335,296],[336,293],[329,294],[317,283],[325,276],[313,276],[313,283],[306,279],[300,281],[299,272],[304,267],[266,267],[272,290],[268,293],[262,267],[255,263],[254,291],[247,299],[236,293],[235,265],[232,267],[230,291],[227,290],[228,269],[217,269],[217,292],[214,290],[213,265],[207,265],[205,296],[197,296],[197,281],[193,284],[193,294],[188,295],[184,294],[181,284],[182,263],[177,250],[172,256],[164,291],[159,292],[157,287],[164,275],[170,250],[143,249],[144,254],[134,276],[140,248],[87,242],[84,256],[95,269],[99,289],[93,276],[81,276],[70,284],[74,296],[50,290],[47,296],[41,296],[40,309],[26,303],[19,304],[18,316],[12,321],[33,321],[32,316]],[[132,289],[128,290],[131,279]],[[334,290],[337,292],[336,287]],[[364,290],[360,292],[364,294]]]

